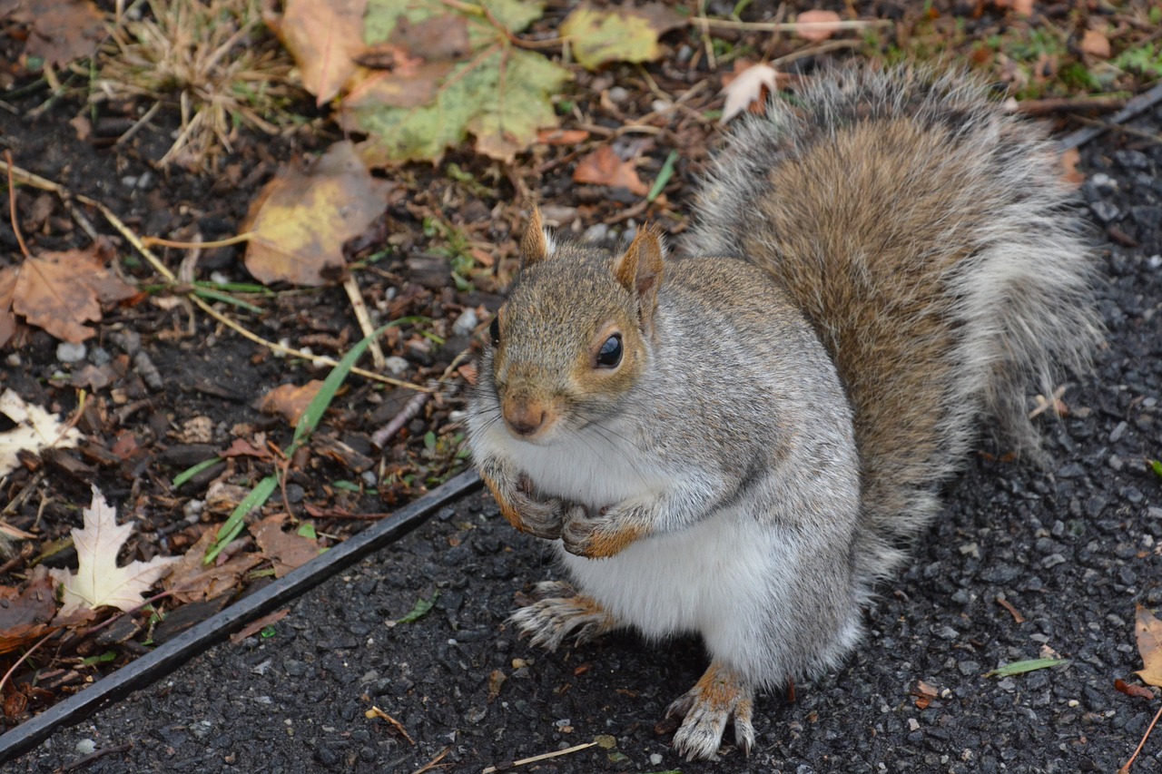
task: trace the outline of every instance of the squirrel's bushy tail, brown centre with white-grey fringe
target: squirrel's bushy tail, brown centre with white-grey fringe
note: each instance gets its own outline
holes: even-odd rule
[[[1048,395],[1100,338],[1092,256],[1057,155],[962,74],[837,70],[745,121],[702,191],[702,255],[768,268],[812,320],[855,409],[865,576],[937,508],[995,417],[1035,451]]]

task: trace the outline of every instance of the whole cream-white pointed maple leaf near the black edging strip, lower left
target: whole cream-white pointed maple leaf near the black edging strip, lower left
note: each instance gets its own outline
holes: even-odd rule
[[[50,569],[49,575],[64,587],[67,616],[83,605],[95,610],[109,605],[120,610],[139,607],[143,596],[177,561],[174,557],[155,557],[149,561],[131,561],[117,566],[117,552],[134,531],[131,524],[117,524],[117,511],[109,507],[100,489],[93,487],[93,502],[81,511],[84,529],[73,529],[77,572]]]

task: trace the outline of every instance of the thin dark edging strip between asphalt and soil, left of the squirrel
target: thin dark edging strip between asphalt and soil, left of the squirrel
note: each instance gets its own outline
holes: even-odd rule
[[[314,588],[340,569],[403,537],[428,521],[437,509],[469,494],[478,486],[480,479],[475,472],[468,471],[457,475],[374,526],[331,547],[317,559],[238,600],[132,664],[0,734],[0,764],[28,752],[57,729],[79,723],[105,704],[152,683],[222,642],[249,621],[271,612],[278,605]]]

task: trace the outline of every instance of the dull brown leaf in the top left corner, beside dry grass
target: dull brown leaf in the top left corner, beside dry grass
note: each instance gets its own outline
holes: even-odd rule
[[[105,17],[92,0],[19,0],[10,19],[30,22],[24,56],[46,65],[67,65],[96,53],[105,40]]]

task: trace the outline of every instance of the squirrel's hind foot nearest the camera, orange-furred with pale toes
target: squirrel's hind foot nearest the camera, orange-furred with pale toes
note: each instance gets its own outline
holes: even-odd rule
[[[666,710],[666,716],[682,716],[674,734],[674,747],[687,760],[709,759],[722,745],[726,723],[734,718],[734,741],[744,754],[754,746],[754,688],[729,667],[717,661],[702,679]]]

